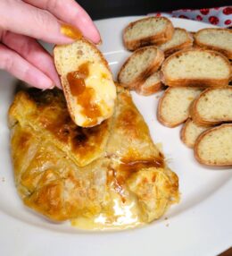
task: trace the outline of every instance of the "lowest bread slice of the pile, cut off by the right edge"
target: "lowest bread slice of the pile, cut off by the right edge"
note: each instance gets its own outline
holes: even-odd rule
[[[232,124],[203,132],[195,141],[195,158],[204,165],[232,166]]]

